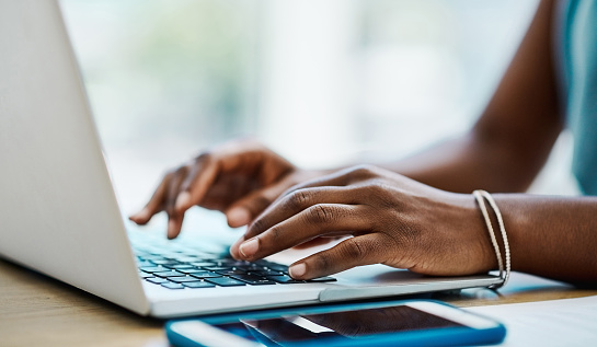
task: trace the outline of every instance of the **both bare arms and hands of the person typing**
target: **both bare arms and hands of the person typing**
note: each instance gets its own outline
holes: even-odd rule
[[[493,99],[462,138],[395,163],[320,172],[261,144],[231,142],[167,175],[130,219],[145,224],[165,210],[174,238],[192,206],[221,210],[231,227],[248,224],[231,247],[233,257],[248,261],[321,236],[353,236],[292,264],[298,279],[376,263],[469,275],[497,267],[470,194],[482,188],[494,193],[504,216],[514,270],[597,285],[597,198],[516,194],[528,188],[563,128],[554,3],[540,2]],[[223,187],[233,180],[240,183],[231,194]]]

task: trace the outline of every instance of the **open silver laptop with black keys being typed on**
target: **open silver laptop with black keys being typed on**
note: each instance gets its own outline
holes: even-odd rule
[[[60,8],[0,0],[0,256],[141,315],[179,317],[487,287],[383,265],[294,281],[192,242],[127,233]],[[203,240],[199,240],[203,243]],[[163,253],[163,254],[162,254]]]

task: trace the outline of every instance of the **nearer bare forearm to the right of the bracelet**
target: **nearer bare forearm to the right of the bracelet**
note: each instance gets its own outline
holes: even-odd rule
[[[597,198],[494,195],[514,270],[597,285]]]

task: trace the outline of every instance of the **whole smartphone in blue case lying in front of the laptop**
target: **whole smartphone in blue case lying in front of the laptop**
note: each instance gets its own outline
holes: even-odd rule
[[[459,346],[501,343],[504,325],[434,300],[333,304],[170,321],[170,343],[196,346]]]

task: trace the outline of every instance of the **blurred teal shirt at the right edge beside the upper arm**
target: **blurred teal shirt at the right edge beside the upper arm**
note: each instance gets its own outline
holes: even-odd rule
[[[582,192],[597,195],[597,1],[570,0],[561,25],[566,124],[574,135],[572,171]]]

